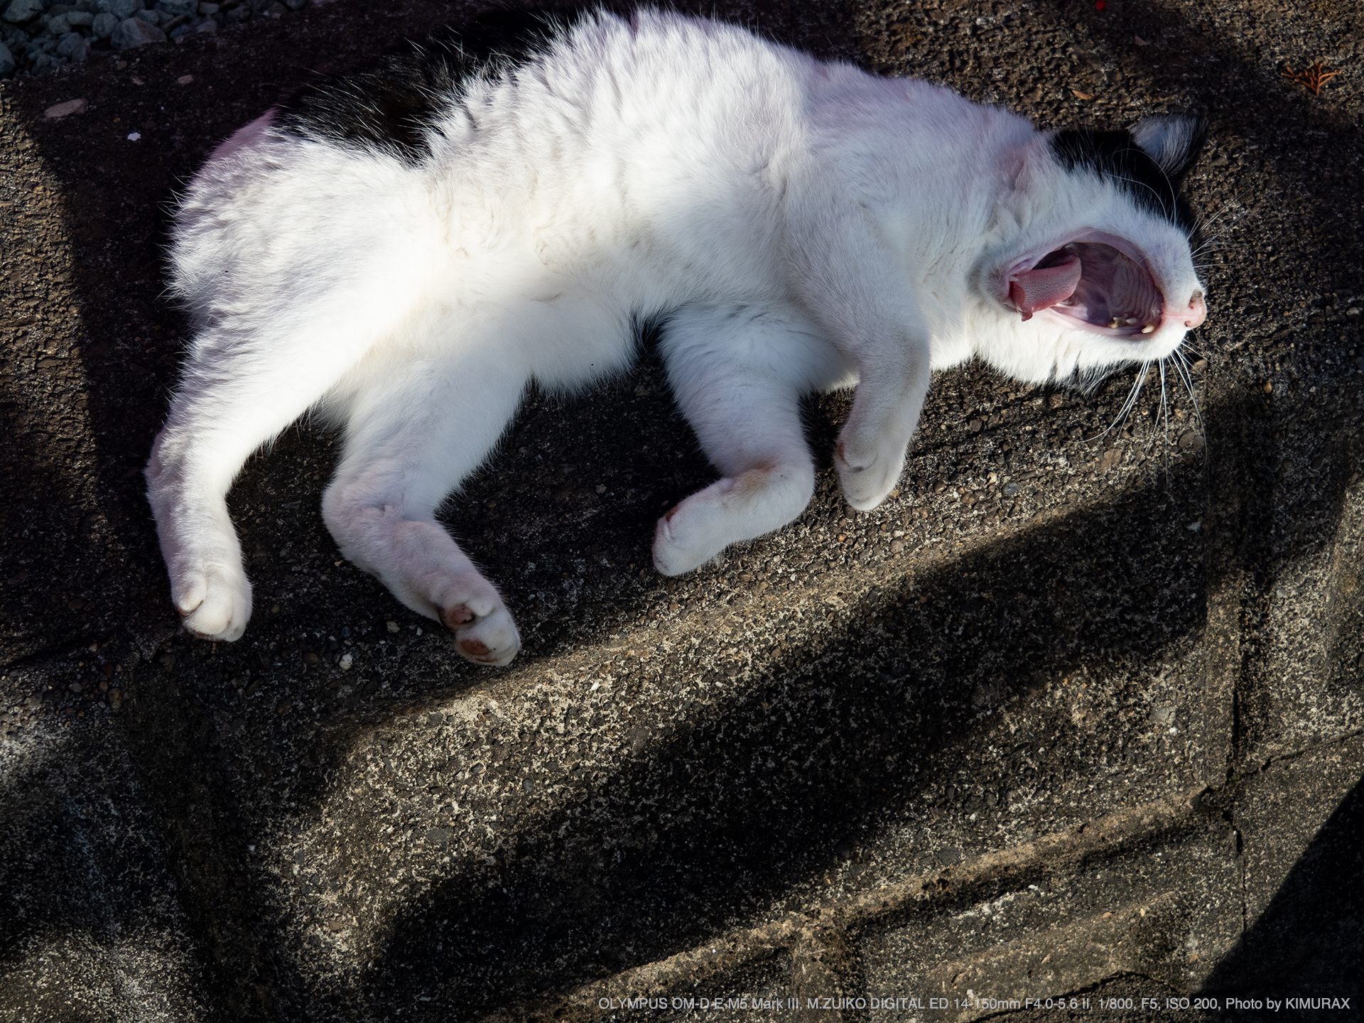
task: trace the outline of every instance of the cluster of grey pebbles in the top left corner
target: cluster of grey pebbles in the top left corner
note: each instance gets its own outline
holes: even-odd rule
[[[318,0],[311,0],[316,3]],[[180,40],[251,18],[280,18],[310,0],[0,0],[0,78],[41,75],[91,53]]]

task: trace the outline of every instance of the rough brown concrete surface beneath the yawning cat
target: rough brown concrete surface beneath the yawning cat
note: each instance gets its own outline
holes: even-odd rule
[[[847,398],[812,401],[809,512],[663,580],[653,520],[711,471],[656,361],[531,396],[450,514],[522,625],[505,670],[340,559],[334,436],[233,491],[232,645],[179,633],[139,475],[176,184],[477,8],[337,0],[0,86],[0,1018],[1357,1013],[1364,15],[1097,7],[715,11],[1043,125],[1207,116],[1200,412],[1153,378],[1102,435],[1131,372],[941,374],[854,514]],[[1320,95],[1282,76],[1314,60]]]

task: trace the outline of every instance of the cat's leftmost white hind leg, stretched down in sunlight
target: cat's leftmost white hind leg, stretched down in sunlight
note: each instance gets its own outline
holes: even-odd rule
[[[251,582],[228,516],[232,480],[337,382],[363,344],[310,348],[211,327],[195,338],[146,466],[170,599],[195,636],[240,638],[251,617]]]

